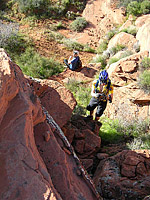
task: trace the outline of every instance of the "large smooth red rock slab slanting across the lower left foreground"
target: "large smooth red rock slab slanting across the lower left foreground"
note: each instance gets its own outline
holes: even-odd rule
[[[99,199],[59,126],[2,49],[0,103],[1,200]]]

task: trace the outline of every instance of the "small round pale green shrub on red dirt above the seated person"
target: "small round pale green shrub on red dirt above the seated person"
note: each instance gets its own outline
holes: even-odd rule
[[[76,20],[70,24],[70,28],[73,31],[81,32],[86,28],[87,24],[88,22],[84,17],[77,17]]]

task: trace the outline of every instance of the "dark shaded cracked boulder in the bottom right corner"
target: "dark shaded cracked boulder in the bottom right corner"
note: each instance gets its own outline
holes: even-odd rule
[[[143,199],[150,191],[150,158],[144,153],[122,151],[102,160],[94,183],[106,199]]]

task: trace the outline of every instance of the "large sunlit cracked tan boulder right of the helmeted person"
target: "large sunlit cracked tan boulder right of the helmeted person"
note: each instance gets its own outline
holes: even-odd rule
[[[141,52],[121,59],[110,65],[109,77],[114,85],[112,104],[108,104],[105,114],[114,119],[147,119],[150,113],[150,95],[137,84],[139,65],[148,52]]]

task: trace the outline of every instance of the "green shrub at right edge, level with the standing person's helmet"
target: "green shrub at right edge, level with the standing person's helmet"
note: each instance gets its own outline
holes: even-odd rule
[[[150,93],[150,71],[145,70],[140,74],[139,77],[139,86]]]

